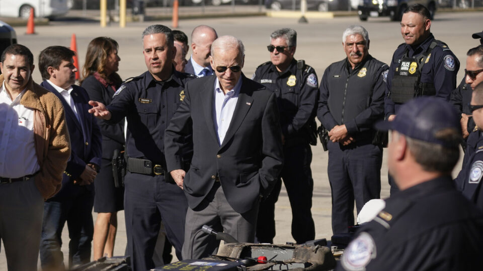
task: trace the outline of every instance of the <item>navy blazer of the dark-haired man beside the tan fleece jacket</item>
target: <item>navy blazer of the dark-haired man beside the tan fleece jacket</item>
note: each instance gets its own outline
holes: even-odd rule
[[[47,81],[43,81],[41,86],[54,93],[64,106],[65,120],[70,135],[71,154],[67,162],[67,168],[62,176],[62,188],[53,198],[69,197],[79,190],[79,185],[73,181],[78,179],[86,168],[86,164],[96,164],[101,166],[102,147],[101,131],[93,114],[88,112],[91,106],[88,104],[89,96],[82,87],[72,85],[72,99],[81,121],[77,120],[74,111],[65,101],[64,97],[55,90]],[[93,184],[86,187],[92,190]]]

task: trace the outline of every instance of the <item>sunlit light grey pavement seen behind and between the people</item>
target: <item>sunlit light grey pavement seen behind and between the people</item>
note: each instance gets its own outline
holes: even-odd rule
[[[258,65],[269,60],[266,45],[269,44],[270,33],[278,28],[290,27],[297,31],[298,41],[295,53],[296,59],[304,59],[322,77],[325,68],[333,62],[345,58],[342,50],[342,32],[350,25],[360,24],[369,32],[369,53],[388,63],[395,48],[403,43],[400,36],[398,22],[390,22],[388,18],[369,18],[367,22],[360,22],[357,16],[336,17],[333,19],[310,19],[308,24],[299,24],[297,19],[257,17],[223,17],[180,20],[178,29],[190,33],[194,27],[206,24],[214,27],[219,36],[233,35],[243,41],[246,48],[245,66],[243,72],[250,77]],[[151,24],[171,26],[170,20],[151,22],[131,22],[126,28],[119,28],[115,23],[101,28],[96,20],[61,20],[50,22],[46,26],[37,26],[36,35],[25,35],[25,27],[15,27],[18,43],[29,47],[38,61],[42,49],[51,45],[69,46],[72,34],[76,35],[77,55],[79,64],[84,64],[88,43],[95,37],[108,36],[118,41],[119,56],[121,58],[119,74],[123,79],[136,76],[146,70],[142,57],[141,32]],[[431,30],[435,37],[448,44],[449,48],[459,58],[461,67],[458,73],[459,82],[463,77],[466,51],[478,45],[471,38],[471,34],[480,32],[483,26],[481,12],[441,13],[437,14]],[[190,53],[188,53],[188,56]],[[33,78],[41,82],[38,69],[34,70]],[[331,229],[331,191],[327,177],[328,153],[324,152],[320,144],[312,147],[312,174],[314,179],[312,216],[315,221],[316,238],[328,238]],[[387,184],[386,149],[381,170],[381,197],[389,196]],[[453,174],[459,171],[457,167]],[[96,214],[93,213],[94,219]],[[119,229],[116,237],[115,255],[123,255],[126,246],[126,232],[124,213],[118,213]],[[277,236],[275,243],[293,241],[290,234],[291,209],[285,189],[280,193],[276,204]],[[62,233],[62,251],[67,259],[68,234],[66,228]],[[0,252],[0,270],[7,270],[4,248]]]

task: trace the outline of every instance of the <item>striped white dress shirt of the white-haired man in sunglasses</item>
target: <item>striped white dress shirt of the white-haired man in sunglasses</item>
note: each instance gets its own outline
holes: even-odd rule
[[[213,104],[213,122],[215,125],[215,131],[218,134],[218,144],[223,143],[225,139],[226,131],[230,126],[233,112],[235,111],[236,102],[238,101],[238,95],[241,88],[241,78],[236,83],[235,87],[225,93],[220,88],[220,82],[218,78],[215,80],[214,85],[214,104]]]

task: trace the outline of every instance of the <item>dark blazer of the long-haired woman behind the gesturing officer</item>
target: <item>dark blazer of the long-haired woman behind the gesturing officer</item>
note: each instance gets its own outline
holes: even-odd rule
[[[116,89],[120,87],[116,86]],[[89,94],[89,98],[93,101],[102,102],[108,105],[112,101],[115,90],[110,86],[104,86],[94,75],[89,75],[82,82],[81,86]],[[97,124],[102,133],[102,158],[112,159],[114,150],[124,150],[124,120],[117,124],[110,125],[106,120],[97,119]]]

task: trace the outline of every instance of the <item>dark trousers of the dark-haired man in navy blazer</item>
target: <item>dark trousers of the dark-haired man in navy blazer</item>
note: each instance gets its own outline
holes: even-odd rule
[[[94,191],[79,187],[69,198],[51,199],[44,203],[44,219],[40,241],[42,269],[62,269],[62,229],[69,230],[69,268],[91,261],[91,242],[94,233],[92,207]]]

